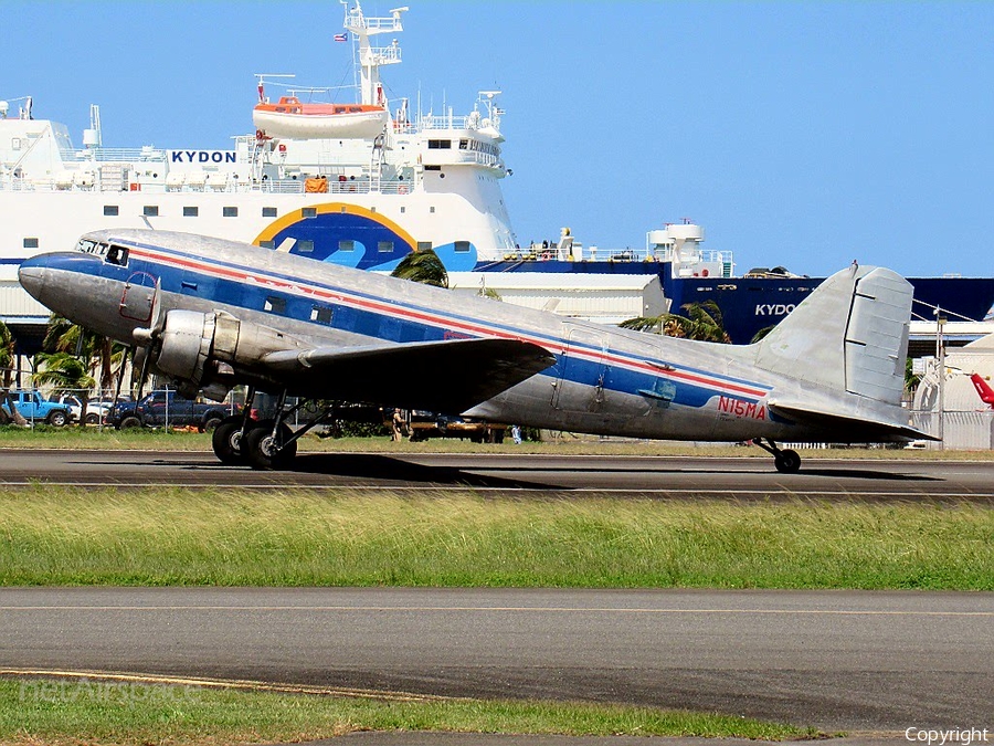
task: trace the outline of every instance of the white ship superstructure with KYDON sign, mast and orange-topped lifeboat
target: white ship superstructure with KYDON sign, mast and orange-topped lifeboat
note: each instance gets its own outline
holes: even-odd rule
[[[281,106],[262,75],[256,130],[233,149],[106,147],[96,106],[76,148],[65,125],[34,117],[31,99],[0,104],[0,318],[43,322],[18,264],[98,228],[225,237],[383,271],[425,248],[454,270],[512,251],[499,92],[482,92],[463,115],[389,102],[380,67],[401,62],[401,48],[377,40],[403,30],[404,10],[372,18],[346,7],[338,39],[355,45],[358,101],[302,103],[290,92],[281,99],[296,104]],[[284,120],[260,120],[265,107]]]

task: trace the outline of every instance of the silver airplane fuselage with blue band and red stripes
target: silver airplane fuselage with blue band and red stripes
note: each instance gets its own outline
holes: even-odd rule
[[[125,344],[148,327],[159,303],[167,314],[223,312],[321,349],[500,338],[551,353],[553,365],[462,412],[498,422],[649,439],[859,441],[860,412],[897,421],[892,401],[839,409],[845,392],[821,386],[816,371],[799,378],[782,365],[764,369],[760,345],[630,332],[203,237],[99,231],[81,246],[28,260],[21,283],[56,313]],[[799,360],[797,368],[812,365],[818,361]],[[285,388],[336,397],[334,380],[287,380]],[[844,411],[852,427],[778,416],[770,407],[778,399]],[[404,406],[390,390],[369,403]]]

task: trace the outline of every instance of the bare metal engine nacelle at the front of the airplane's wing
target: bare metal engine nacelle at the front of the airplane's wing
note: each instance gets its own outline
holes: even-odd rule
[[[223,379],[235,369],[252,371],[268,353],[306,349],[308,345],[268,326],[240,322],[231,314],[176,309],[166,314],[152,353],[155,368],[169,376],[179,391],[200,389],[223,399],[231,383]]]

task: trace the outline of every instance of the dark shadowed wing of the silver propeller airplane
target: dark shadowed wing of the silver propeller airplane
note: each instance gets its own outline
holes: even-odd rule
[[[457,414],[551,366],[543,347],[517,339],[451,339],[370,347],[317,347],[263,356],[293,389],[404,409]]]

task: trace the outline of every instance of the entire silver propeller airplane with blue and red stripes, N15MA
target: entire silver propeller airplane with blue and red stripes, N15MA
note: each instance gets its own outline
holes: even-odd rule
[[[931,439],[901,409],[912,288],[843,270],[763,340],[718,345],[567,318],[222,239],[152,230],[84,234],[39,254],[21,285],[52,311],[135,348],[135,366],[192,395],[247,386],[212,439],[225,464],[289,467],[287,397],[430,410],[639,439]],[[144,375],[142,375],[144,378]],[[277,414],[255,422],[256,391]],[[330,418],[330,408],[322,418]],[[320,422],[318,418],[316,422]]]

